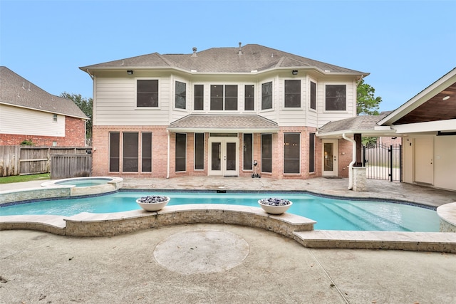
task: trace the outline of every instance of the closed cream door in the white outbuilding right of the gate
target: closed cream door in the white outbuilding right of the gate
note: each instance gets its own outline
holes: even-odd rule
[[[434,184],[433,151],[432,137],[415,138],[415,182]]]

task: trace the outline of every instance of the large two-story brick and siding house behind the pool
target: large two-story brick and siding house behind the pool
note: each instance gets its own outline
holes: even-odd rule
[[[81,70],[93,78],[93,175],[348,176],[352,143],[316,132],[356,116],[368,73],[241,43]]]

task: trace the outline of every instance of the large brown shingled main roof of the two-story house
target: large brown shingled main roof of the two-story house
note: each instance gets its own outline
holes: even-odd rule
[[[259,73],[281,68],[314,69],[323,74],[366,76],[358,70],[314,61],[274,48],[247,44],[239,48],[209,48],[187,54],[151,53],[148,55],[88,65],[80,69],[88,72],[110,69],[175,68],[188,73]]]

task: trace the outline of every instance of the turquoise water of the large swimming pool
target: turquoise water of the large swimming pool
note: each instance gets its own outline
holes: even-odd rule
[[[293,201],[287,211],[317,221],[315,229],[356,231],[439,231],[437,212],[408,204],[381,201],[331,199],[302,193],[214,192],[115,192],[103,196],[58,199],[15,204],[0,208],[0,216],[53,214],[72,216],[81,212],[111,213],[140,209],[136,199],[147,195],[170,196],[168,205],[234,204],[259,206],[258,200],[279,197]]]

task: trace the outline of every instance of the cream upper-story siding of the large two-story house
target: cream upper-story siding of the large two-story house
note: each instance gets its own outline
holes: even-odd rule
[[[149,74],[151,75],[151,74]],[[159,107],[137,108],[136,107],[136,80],[157,79],[159,81]],[[284,82],[285,79],[301,80],[301,108],[284,108]],[[175,109],[175,81],[187,84],[186,109]],[[310,80],[316,83],[316,110],[310,109]],[[261,85],[267,82],[273,83],[273,108],[261,110]],[[204,85],[204,110],[193,110],[194,85]],[[244,111],[244,86],[255,85],[255,109]],[[346,85],[346,110],[325,111],[326,84]],[[211,85],[237,85],[238,86],[238,110],[237,111],[211,111],[210,110],[210,87]],[[192,113],[205,114],[257,114],[273,120],[279,126],[309,126],[321,127],[329,121],[341,120],[353,117],[356,114],[356,83],[346,78],[318,79],[310,78],[302,73],[299,77],[291,77],[289,73],[269,75],[264,78],[252,78],[251,76],[226,76],[214,75],[211,77],[187,78],[187,75],[172,75],[160,73],[159,77],[148,76],[146,72],[135,73],[135,77],[102,77],[98,76],[94,81],[94,125],[169,125],[171,122]]]

